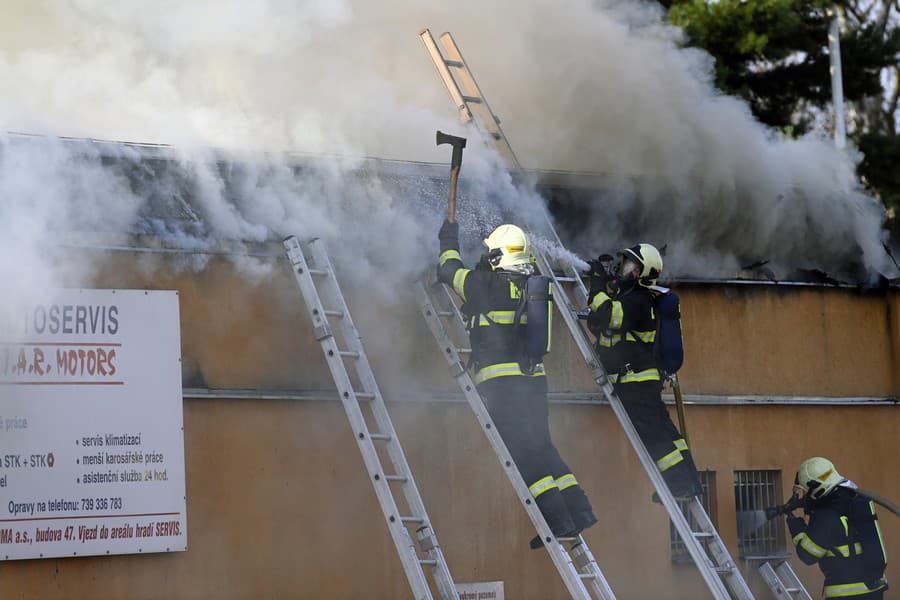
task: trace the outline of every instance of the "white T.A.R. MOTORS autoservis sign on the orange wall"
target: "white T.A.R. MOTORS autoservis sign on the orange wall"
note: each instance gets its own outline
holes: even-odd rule
[[[0,315],[0,560],[187,548],[178,294]]]

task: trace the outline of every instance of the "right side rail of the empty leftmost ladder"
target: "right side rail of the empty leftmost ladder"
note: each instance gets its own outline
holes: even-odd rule
[[[362,336],[360,336],[359,330],[353,322],[350,308],[337,283],[334,266],[331,264],[331,260],[328,257],[325,244],[322,240],[315,239],[310,242],[309,247],[316,267],[328,272],[327,281],[323,282],[323,287],[331,288],[329,290],[329,305],[327,308],[329,310],[337,309],[342,313],[341,318],[337,319],[337,321],[340,323],[343,342],[347,345],[347,350],[356,352],[357,355],[352,359],[352,363],[356,370],[359,383],[362,385],[363,391],[372,394],[372,398],[368,404],[372,411],[372,415],[375,417],[375,424],[378,427],[377,433],[385,436],[384,439],[388,457],[394,467],[393,473],[383,473],[383,475],[394,475],[403,478],[398,480],[397,484],[403,492],[403,496],[406,499],[407,506],[412,515],[421,518],[421,522],[416,528],[416,535],[419,538],[424,554],[429,560],[434,561],[431,566],[438,591],[442,598],[455,600],[459,594],[456,591],[456,586],[450,575],[450,567],[447,564],[444,553],[438,543],[437,535],[431,525],[431,519],[428,517],[425,502],[422,500],[422,496],[419,493],[419,488],[413,477],[412,469],[409,467],[406,454],[403,452],[403,447],[400,445],[400,438],[397,436],[397,432],[394,429],[394,424],[391,420],[390,413],[387,410],[387,405],[384,402],[384,397],[381,394],[381,389],[375,379],[375,373],[372,371],[371,364],[366,355],[362,343]]]

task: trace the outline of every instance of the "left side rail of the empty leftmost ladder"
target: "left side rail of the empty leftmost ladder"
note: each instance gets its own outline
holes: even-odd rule
[[[316,291],[315,282],[312,280],[309,264],[300,247],[300,242],[296,237],[291,236],[284,241],[284,246],[297,286],[312,318],[314,334],[325,354],[325,361],[328,364],[329,371],[331,371],[332,378],[337,384],[338,395],[350,421],[350,427],[353,430],[360,454],[362,454],[366,470],[369,472],[375,495],[381,505],[381,511],[385,517],[391,538],[394,541],[394,546],[397,549],[397,555],[403,565],[403,570],[406,573],[406,578],[416,598],[431,600],[431,590],[419,562],[415,543],[406,525],[400,519],[401,515],[394,501],[390,484],[384,477],[383,468],[372,442],[371,433],[360,410],[356,392],[343,364],[343,358],[339,354],[337,341],[325,315],[325,308],[322,306]]]

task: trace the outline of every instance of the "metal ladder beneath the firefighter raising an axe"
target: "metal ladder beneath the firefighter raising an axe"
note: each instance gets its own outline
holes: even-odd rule
[[[513,462],[503,438],[500,437],[494,422],[488,414],[487,408],[481,399],[481,395],[475,388],[475,383],[465,367],[462,356],[468,356],[471,348],[462,348],[456,345],[455,340],[465,340],[468,335],[465,330],[465,321],[453,296],[446,286],[433,284],[418,285],[419,306],[428,323],[431,333],[434,334],[438,345],[442,349],[444,358],[450,365],[450,372],[459,383],[465,394],[469,406],[478,418],[484,434],[487,436],[491,447],[497,454],[497,458],[504,467],[506,476],[512,483],[519,500],[525,507],[525,511],[531,518],[531,522],[537,529],[538,535],[544,540],[544,547],[550,553],[553,565],[559,572],[572,598],[579,600],[600,599],[614,600],[615,595],[600,571],[597,561],[587,546],[587,542],[581,535],[572,538],[555,538],[547,525],[547,521],[538,509],[531,491],[519,470]],[[453,333],[451,334],[450,331]],[[568,546],[568,548],[566,547]]]

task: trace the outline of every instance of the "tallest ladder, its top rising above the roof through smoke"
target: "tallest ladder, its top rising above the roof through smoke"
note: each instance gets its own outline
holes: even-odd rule
[[[451,99],[457,105],[457,110],[459,111],[462,120],[464,122],[474,122],[478,129],[494,140],[500,153],[509,162],[510,167],[517,171],[521,170],[521,165],[516,158],[515,153],[513,153],[509,141],[500,129],[500,120],[493,112],[491,112],[490,106],[484,99],[480,88],[475,83],[475,78],[469,70],[465,60],[462,58],[462,53],[459,51],[453,37],[449,33],[444,33],[440,36],[439,39],[441,46],[443,47],[443,53],[438,48],[429,30],[423,30],[419,34],[419,37],[425,45],[425,49],[431,57],[441,80],[447,87]],[[445,58],[445,55],[447,58]],[[554,238],[552,241],[555,241],[562,246],[559,236],[550,221],[550,217],[546,213],[546,209],[544,217],[546,226]],[[728,600],[729,598],[734,597],[739,600],[751,600],[753,595],[751,594],[746,581],[744,581],[738,566],[729,555],[728,549],[719,537],[718,532],[713,526],[709,516],[706,514],[700,500],[698,498],[693,498],[685,507],[691,517],[693,517],[692,520],[697,524],[697,530],[695,531],[691,529],[684,513],[679,508],[678,503],[675,501],[668,486],[665,484],[662,474],[659,472],[655,462],[650,457],[650,454],[647,452],[647,449],[644,447],[643,442],[638,436],[637,431],[634,429],[634,425],[632,425],[628,413],[625,412],[625,408],[622,406],[621,401],[615,395],[613,385],[609,381],[607,373],[600,360],[597,358],[593,345],[579,321],[579,311],[576,309],[576,305],[586,307],[588,301],[587,290],[584,287],[584,282],[582,282],[579,273],[573,267],[569,266],[568,268],[562,269],[565,273],[564,276],[558,276],[556,271],[553,270],[551,261],[545,252],[538,251],[537,259],[538,268],[541,273],[549,276],[553,281],[555,304],[557,308],[559,308],[560,314],[572,335],[572,339],[578,346],[585,363],[591,371],[594,381],[602,389],[604,396],[613,408],[629,442],[631,442],[644,470],[650,477],[654,488],[656,488],[663,506],[669,513],[672,523],[675,525],[676,530],[684,541],[694,564],[697,565],[710,592],[712,592],[713,596],[717,599]],[[575,303],[573,303],[566,292],[563,285],[564,283],[572,284]],[[788,569],[789,568],[788,565]],[[791,573],[793,572],[791,571]],[[794,577],[794,580],[796,580],[796,576]],[[769,583],[768,580],[766,581]],[[799,586],[800,590],[803,590],[803,586],[800,584],[799,580],[792,582],[791,587],[794,587],[794,584]],[[773,587],[772,591],[777,596],[778,590]],[[805,594],[806,591],[803,590],[802,593]],[[803,596],[801,595],[798,597],[802,598]]]

